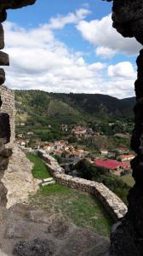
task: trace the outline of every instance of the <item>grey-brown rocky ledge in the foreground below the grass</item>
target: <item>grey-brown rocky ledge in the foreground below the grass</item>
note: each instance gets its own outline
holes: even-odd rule
[[[109,255],[106,237],[27,205],[1,207],[0,230],[1,256]]]

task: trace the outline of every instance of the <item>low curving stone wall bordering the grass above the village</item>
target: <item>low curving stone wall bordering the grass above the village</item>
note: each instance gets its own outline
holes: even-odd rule
[[[127,207],[123,201],[103,183],[66,175],[57,161],[49,154],[46,154],[44,150],[37,150],[37,154],[46,162],[46,165],[57,183],[95,195],[113,220],[116,221],[118,218],[123,218],[127,212]]]

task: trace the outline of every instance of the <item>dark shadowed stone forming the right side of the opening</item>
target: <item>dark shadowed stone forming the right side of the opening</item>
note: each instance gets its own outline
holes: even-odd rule
[[[108,0],[110,1],[110,0]],[[113,0],[113,27],[123,37],[134,37],[143,44],[143,1]],[[135,124],[131,148],[137,154],[131,161],[134,188],[129,191],[128,212],[112,229],[112,255],[143,255],[143,49],[137,58],[138,75],[135,81]]]

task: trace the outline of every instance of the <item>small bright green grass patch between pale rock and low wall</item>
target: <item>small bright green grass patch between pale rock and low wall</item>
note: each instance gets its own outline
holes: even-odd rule
[[[35,178],[47,178],[51,177],[47,166],[43,163],[43,160],[35,154],[26,154],[26,157],[31,160],[31,162],[34,164],[31,173],[33,177]]]

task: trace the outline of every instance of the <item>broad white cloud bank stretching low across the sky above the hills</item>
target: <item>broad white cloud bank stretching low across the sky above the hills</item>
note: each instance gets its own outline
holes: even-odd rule
[[[83,17],[82,11],[76,14],[78,18]],[[74,19],[69,21],[67,16],[66,20],[62,17],[56,27],[66,26],[68,22],[80,23]],[[134,95],[135,72],[130,62],[110,67],[105,62],[89,64],[82,53],[68,49],[66,44],[57,40],[54,37],[55,26],[49,28],[49,24],[26,30],[14,23],[5,23],[5,51],[10,57],[10,67],[6,68],[9,87],[102,93],[120,98]]]

